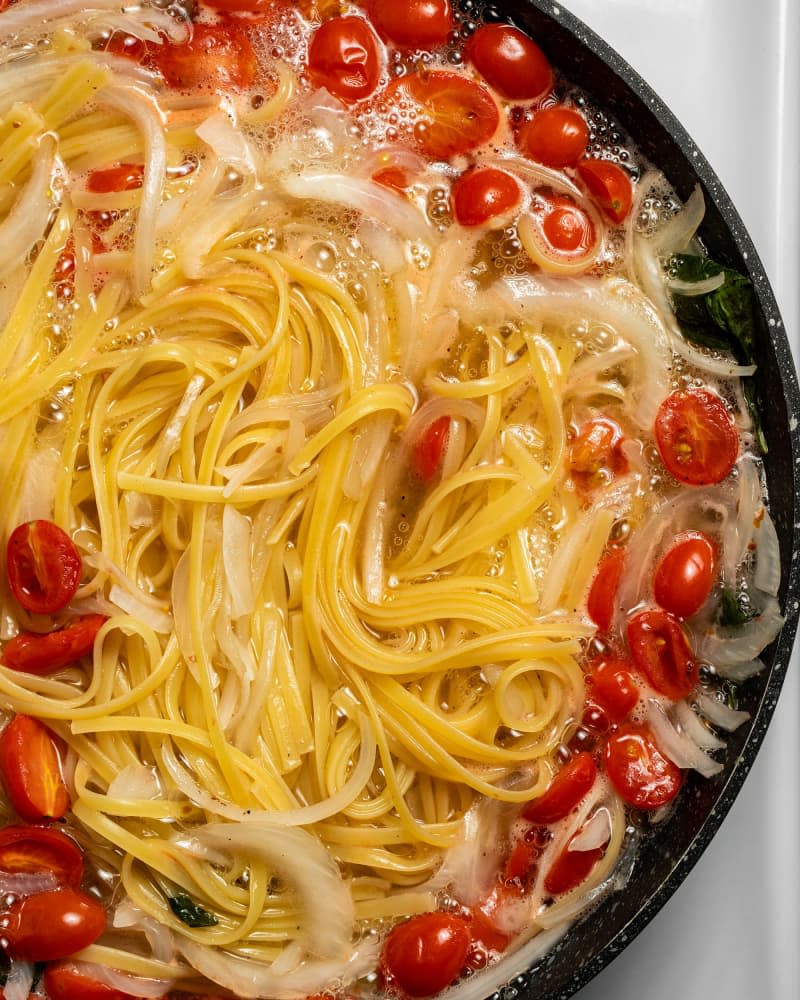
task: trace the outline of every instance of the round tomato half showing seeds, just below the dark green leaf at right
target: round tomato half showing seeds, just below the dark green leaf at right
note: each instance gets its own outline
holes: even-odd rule
[[[656,414],[655,435],[667,471],[688,486],[722,482],[739,454],[733,420],[708,389],[680,389],[667,396]]]

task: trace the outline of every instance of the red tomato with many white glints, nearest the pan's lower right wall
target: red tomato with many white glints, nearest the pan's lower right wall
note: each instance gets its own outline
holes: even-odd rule
[[[606,772],[620,796],[637,809],[659,809],[680,791],[683,771],[658,749],[650,729],[629,722],[608,738]]]

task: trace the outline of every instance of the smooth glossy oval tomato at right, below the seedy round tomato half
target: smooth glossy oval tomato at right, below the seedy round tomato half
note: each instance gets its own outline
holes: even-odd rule
[[[678,536],[656,567],[655,599],[678,618],[691,618],[708,600],[716,570],[717,550],[708,535],[686,532]]]

